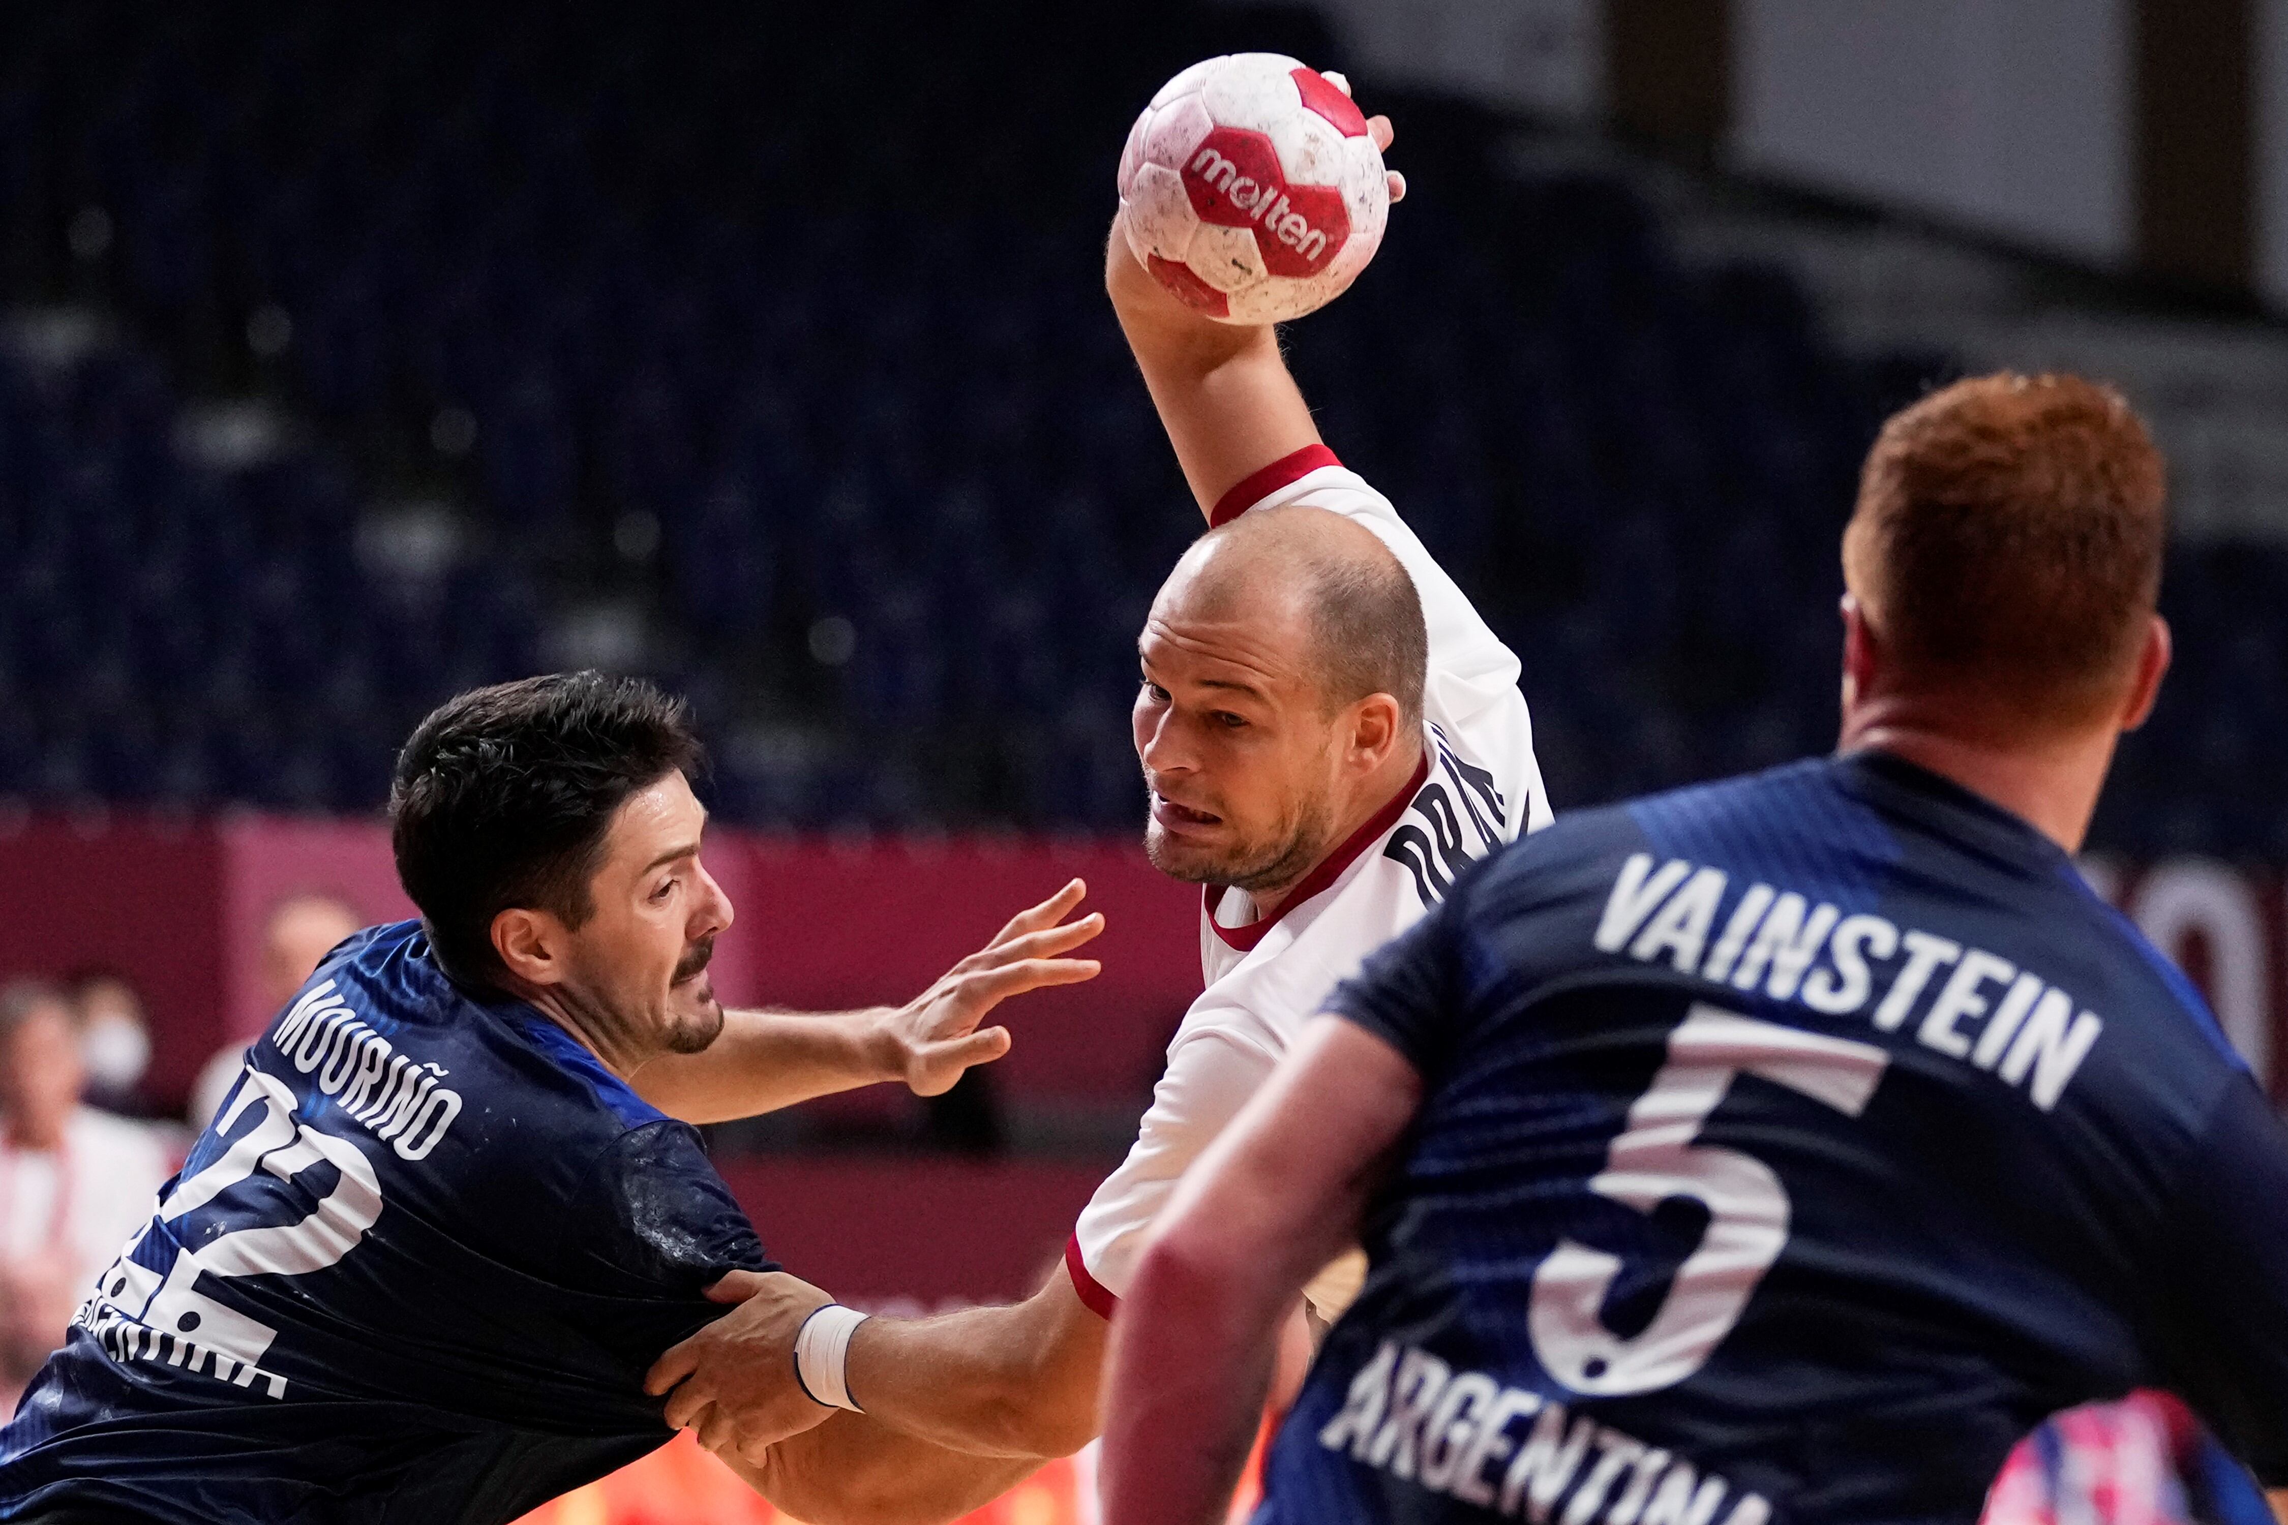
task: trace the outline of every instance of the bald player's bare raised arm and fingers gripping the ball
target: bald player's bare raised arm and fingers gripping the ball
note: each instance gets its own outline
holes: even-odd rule
[[[1366,130],[1375,146],[1391,146],[1389,117],[1371,119]],[[1393,174],[1391,201],[1403,194],[1405,181]],[[1105,290],[1201,512],[1263,466],[1320,444],[1279,357],[1279,334],[1270,325],[1215,322],[1167,295],[1130,254],[1119,222],[1105,247]]]

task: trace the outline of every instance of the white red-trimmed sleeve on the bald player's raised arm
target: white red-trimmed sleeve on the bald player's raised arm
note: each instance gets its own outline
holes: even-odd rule
[[[1284,503],[1325,508],[1357,519],[1382,537],[1414,578],[1414,592],[1423,604],[1423,624],[1430,631],[1430,674],[1423,695],[1428,718],[1460,743],[1471,761],[1494,773],[1508,803],[1512,837],[1547,825],[1549,796],[1533,757],[1533,718],[1517,690],[1522,672],[1517,654],[1478,615],[1391,501],[1368,487],[1357,471],[1345,469],[1325,446],[1297,450],[1254,473],[1224,494],[1208,519],[1229,524],[1249,510]]]

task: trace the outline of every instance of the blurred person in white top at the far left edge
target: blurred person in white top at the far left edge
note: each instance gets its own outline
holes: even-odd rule
[[[0,990],[0,1390],[64,1340],[94,1276],[151,1214],[167,1155],[137,1123],[80,1104],[80,1024],[55,985]]]

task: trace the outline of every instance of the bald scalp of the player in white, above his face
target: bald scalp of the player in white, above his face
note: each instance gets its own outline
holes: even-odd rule
[[[1357,519],[1304,503],[1240,514],[1192,542],[1158,604],[1210,620],[1279,617],[1297,631],[1329,711],[1387,693],[1409,725],[1421,720],[1430,665],[1421,594]]]

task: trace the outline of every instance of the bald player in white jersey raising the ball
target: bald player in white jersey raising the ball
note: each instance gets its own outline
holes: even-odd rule
[[[1389,121],[1371,130],[1389,144]],[[654,1367],[654,1392],[680,1383],[668,1422],[728,1461],[748,1450],[746,1475],[824,1525],[952,1518],[1096,1436],[1105,1328],[1185,1166],[1336,981],[1471,860],[1549,821],[1517,658],[1320,441],[1274,332],[1181,306],[1119,229],[1105,286],[1210,526],[1153,601],[1133,713],[1144,846],[1201,885],[1206,990],[1032,1299],[860,1322],[780,1285]],[[1361,1269],[1325,1267],[1313,1315],[1341,1315]],[[796,1363],[849,1413],[764,1450]]]

